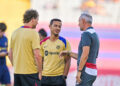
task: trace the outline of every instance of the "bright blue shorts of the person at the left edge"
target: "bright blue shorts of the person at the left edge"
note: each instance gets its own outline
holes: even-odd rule
[[[6,65],[0,65],[0,83],[10,84],[10,73]]]

